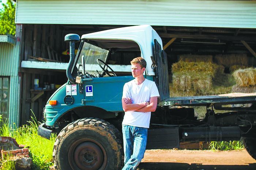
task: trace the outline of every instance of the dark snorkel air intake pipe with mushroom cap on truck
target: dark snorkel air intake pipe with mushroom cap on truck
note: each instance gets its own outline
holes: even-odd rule
[[[80,41],[80,36],[77,34],[67,34],[65,36],[65,42],[69,42],[69,55],[70,55],[66,74],[67,74],[68,80],[73,84],[76,83],[76,79],[72,76],[71,71],[75,61],[75,43],[79,41]]]

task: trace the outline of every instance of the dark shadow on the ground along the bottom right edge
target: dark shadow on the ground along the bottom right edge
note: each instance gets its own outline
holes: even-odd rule
[[[138,170],[256,170],[256,163],[249,165],[202,165],[192,163],[142,162]]]

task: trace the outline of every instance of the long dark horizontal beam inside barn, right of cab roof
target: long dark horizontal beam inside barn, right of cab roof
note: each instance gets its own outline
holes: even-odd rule
[[[215,40],[230,40],[230,41],[240,41],[240,40],[245,40],[245,41],[255,41],[256,36],[227,36],[227,35],[189,35],[189,34],[165,34],[165,33],[160,33],[159,36],[161,38],[187,38],[187,39],[215,39]]]

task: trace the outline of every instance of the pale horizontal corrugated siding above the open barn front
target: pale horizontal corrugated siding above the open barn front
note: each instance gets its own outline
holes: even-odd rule
[[[256,1],[17,0],[16,23],[256,28]]]

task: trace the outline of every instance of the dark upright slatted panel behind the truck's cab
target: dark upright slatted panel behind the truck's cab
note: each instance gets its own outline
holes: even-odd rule
[[[168,78],[168,66],[167,55],[162,50],[161,45],[154,39],[153,46],[153,65],[155,70],[155,84],[158,87],[160,99],[165,100],[170,97],[169,93],[169,78]]]

